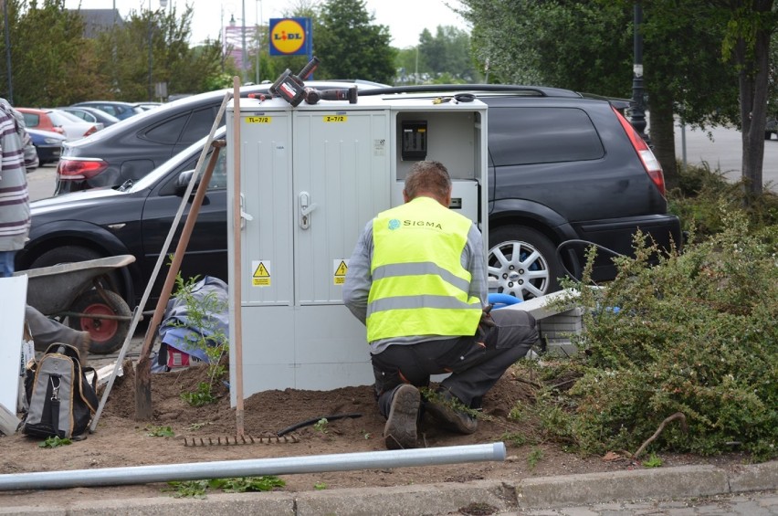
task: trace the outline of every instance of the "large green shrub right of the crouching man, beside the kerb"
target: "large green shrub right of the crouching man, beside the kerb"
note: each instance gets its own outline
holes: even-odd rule
[[[531,411],[550,437],[585,453],[635,451],[680,412],[688,431],[668,424],[650,449],[778,457],[778,226],[719,209],[720,231],[692,235],[682,254],[649,265],[658,250],[638,236],[605,289],[568,283],[580,289],[567,302],[584,308],[583,353],[546,366],[545,385],[580,375],[537,394]]]

